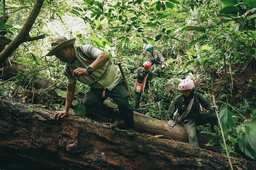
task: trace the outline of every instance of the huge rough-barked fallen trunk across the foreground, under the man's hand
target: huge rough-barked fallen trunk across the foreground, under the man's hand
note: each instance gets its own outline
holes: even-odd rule
[[[56,121],[53,111],[5,99],[0,136],[1,162],[13,160],[28,170],[229,169],[223,154],[138,132],[130,138],[124,130],[74,114]],[[231,161],[235,170],[256,167],[242,157]]]

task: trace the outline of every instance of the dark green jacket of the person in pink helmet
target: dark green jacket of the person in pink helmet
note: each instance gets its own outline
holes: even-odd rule
[[[209,102],[209,100],[202,97],[202,95],[198,92],[194,92],[195,94],[195,100],[193,103],[193,106],[188,114],[188,116],[184,119],[194,118],[197,114],[200,112],[200,105],[202,105],[203,108],[209,109],[210,105],[213,105]],[[168,114],[170,115],[169,118],[173,119],[174,112],[178,109],[179,116],[182,115],[184,111],[188,108],[190,100],[185,100],[183,94],[178,95],[173,102],[170,104],[168,109]]]

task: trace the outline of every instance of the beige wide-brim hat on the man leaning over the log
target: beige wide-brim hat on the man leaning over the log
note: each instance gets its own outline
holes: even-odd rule
[[[47,56],[53,56],[57,51],[59,51],[61,48],[64,48],[65,46],[73,45],[74,39],[67,39],[66,37],[57,37],[53,40],[52,42],[52,50],[48,52],[46,55]]]

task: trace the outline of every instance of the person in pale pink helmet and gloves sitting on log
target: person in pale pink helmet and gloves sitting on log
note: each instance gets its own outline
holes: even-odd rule
[[[182,91],[182,94],[178,95],[169,106],[168,125],[174,127],[175,123],[181,123],[188,133],[189,144],[199,146],[196,126],[210,123],[210,130],[214,131],[214,126],[217,125],[215,111],[218,111],[218,106],[195,92],[194,82],[189,78],[182,79],[178,89]],[[200,105],[210,112],[202,113]]]

